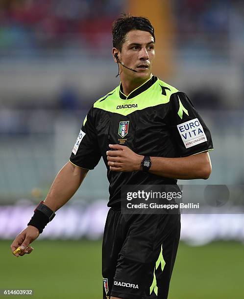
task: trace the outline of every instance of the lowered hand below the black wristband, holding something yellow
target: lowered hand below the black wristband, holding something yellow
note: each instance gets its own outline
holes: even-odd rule
[[[13,243],[10,245],[12,254],[14,256],[24,256],[25,254],[30,254],[33,247],[29,246],[31,242],[33,242],[40,235],[39,230],[32,226],[28,225],[24,231],[22,231],[19,235],[16,236]],[[14,254],[14,251],[20,247],[21,253]]]

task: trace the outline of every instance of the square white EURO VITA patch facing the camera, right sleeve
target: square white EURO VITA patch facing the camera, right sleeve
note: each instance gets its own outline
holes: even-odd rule
[[[177,128],[187,149],[207,141],[207,137],[198,118],[179,124]]]

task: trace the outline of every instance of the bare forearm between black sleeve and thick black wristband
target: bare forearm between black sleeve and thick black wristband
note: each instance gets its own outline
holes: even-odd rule
[[[53,181],[44,204],[52,211],[57,211],[78,190],[87,172],[88,170],[77,167],[71,162],[65,164]]]

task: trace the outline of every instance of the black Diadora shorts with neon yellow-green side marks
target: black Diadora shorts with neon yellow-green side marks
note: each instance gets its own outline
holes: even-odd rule
[[[122,214],[111,208],[102,244],[103,299],[167,299],[180,214]]]

